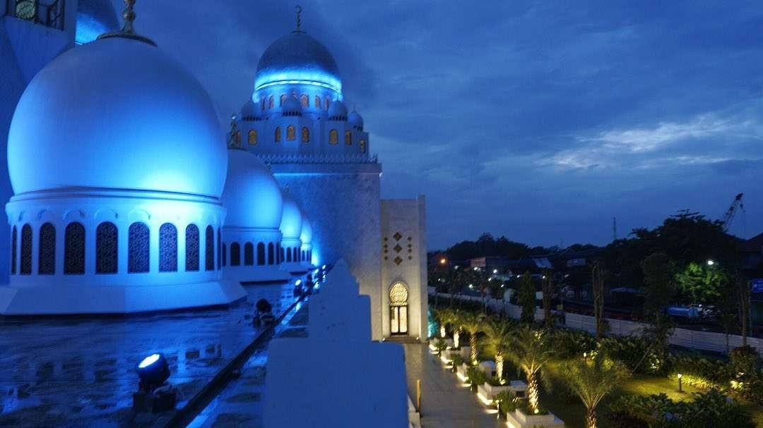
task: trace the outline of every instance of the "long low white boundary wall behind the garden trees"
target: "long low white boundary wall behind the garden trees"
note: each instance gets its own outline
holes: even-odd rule
[[[450,299],[450,295],[445,292],[439,292],[437,295],[439,295],[440,299]],[[504,311],[504,313],[506,313],[511,318],[519,319],[520,315],[522,314],[522,308],[520,306],[504,302],[502,299],[488,298],[483,300],[481,297],[475,295],[456,295],[455,298],[471,300],[473,302],[480,303],[485,302],[492,310]],[[535,319],[543,319],[542,308],[535,308]],[[607,318],[607,322],[610,324],[609,333],[617,334],[618,336],[627,336],[629,334],[638,333],[640,330],[648,327],[648,324],[641,322],[617,320],[613,318]],[[596,322],[594,317],[591,315],[581,315],[565,312],[565,327],[584,330],[588,331],[589,333],[596,332]],[[670,337],[670,343],[679,347],[693,348],[695,350],[726,352],[726,335],[713,331],[675,328],[673,330],[673,334]],[[763,339],[760,337],[747,337],[747,344],[758,350],[758,353],[763,354]],[[739,334],[729,334],[729,349],[734,349],[741,346],[742,336],[739,336]]]

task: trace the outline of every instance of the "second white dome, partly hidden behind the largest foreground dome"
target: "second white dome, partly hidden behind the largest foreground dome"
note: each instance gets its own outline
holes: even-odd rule
[[[272,228],[281,225],[283,199],[269,169],[246,150],[228,150],[228,176],[223,191],[225,225]]]

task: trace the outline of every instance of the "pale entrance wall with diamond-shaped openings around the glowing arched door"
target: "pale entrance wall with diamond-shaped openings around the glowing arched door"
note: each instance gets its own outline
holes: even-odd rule
[[[389,289],[408,287],[408,336],[427,337],[427,247],[424,197],[381,201],[381,330],[390,330]]]

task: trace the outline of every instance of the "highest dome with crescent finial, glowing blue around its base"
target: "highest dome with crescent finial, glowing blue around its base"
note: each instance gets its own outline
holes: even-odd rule
[[[257,63],[255,90],[284,83],[305,83],[342,91],[339,68],[329,50],[302,31],[275,40]]]

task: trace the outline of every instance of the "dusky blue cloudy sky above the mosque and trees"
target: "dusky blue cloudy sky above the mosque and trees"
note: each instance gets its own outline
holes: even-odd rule
[[[122,2],[114,0],[117,11]],[[296,3],[137,2],[227,126]],[[607,244],[680,209],[763,232],[763,2],[301,1],[427,243]]]

